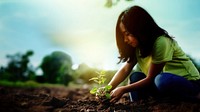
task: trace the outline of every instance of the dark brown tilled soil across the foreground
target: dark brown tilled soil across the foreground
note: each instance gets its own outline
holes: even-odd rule
[[[167,99],[130,102],[125,94],[116,104],[101,104],[88,89],[0,86],[0,112],[200,112],[200,103]]]

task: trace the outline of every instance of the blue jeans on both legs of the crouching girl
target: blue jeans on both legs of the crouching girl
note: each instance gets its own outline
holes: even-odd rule
[[[145,77],[146,75],[142,72],[134,72],[130,76],[130,83],[137,82]],[[178,99],[194,99],[199,93],[200,85],[197,83],[171,73],[161,73],[148,86],[132,91],[129,94],[131,101],[137,101],[147,99],[149,96],[155,98],[170,96]]]

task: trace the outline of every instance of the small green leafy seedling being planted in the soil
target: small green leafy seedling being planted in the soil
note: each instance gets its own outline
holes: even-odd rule
[[[97,74],[98,74],[97,77],[93,77],[93,78],[89,79],[89,81],[94,81],[95,83],[98,84],[97,87],[93,87],[90,90],[90,93],[95,94],[96,98],[100,99],[100,100],[111,99],[109,91],[112,88],[112,86],[111,85],[104,86],[104,83],[106,81],[105,71],[97,72]]]

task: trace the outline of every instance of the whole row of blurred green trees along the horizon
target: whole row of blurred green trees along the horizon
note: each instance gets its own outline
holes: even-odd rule
[[[6,55],[8,63],[0,67],[0,80],[6,81],[29,81],[33,80],[39,83],[64,84],[70,82],[76,84],[90,83],[89,79],[97,76],[97,68],[91,68],[86,64],[80,64],[77,69],[72,69],[72,58],[70,55],[54,51],[44,56],[38,67],[34,67],[30,61],[34,55],[32,50],[26,53],[16,53]],[[38,70],[42,74],[38,74]],[[107,78],[111,79],[115,71],[107,71]]]

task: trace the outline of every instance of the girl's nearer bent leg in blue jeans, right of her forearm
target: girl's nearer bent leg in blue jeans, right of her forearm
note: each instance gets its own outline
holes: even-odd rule
[[[157,75],[154,83],[159,92],[164,95],[192,96],[198,93],[192,82],[170,73]]]

